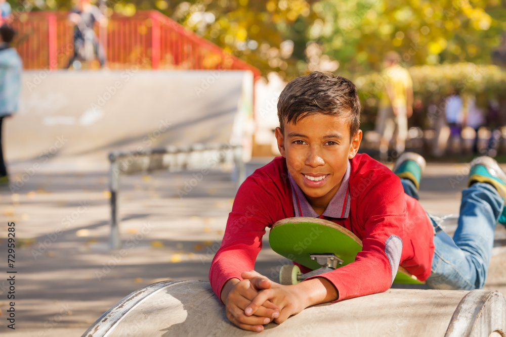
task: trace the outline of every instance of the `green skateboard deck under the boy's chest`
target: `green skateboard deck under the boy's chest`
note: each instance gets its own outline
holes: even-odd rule
[[[320,265],[311,259],[311,254],[333,253],[342,260],[339,268],[355,261],[362,250],[362,241],[348,229],[328,220],[309,217],[276,222],[269,233],[269,244],[276,253],[313,270]],[[394,283],[422,282],[399,266]]]

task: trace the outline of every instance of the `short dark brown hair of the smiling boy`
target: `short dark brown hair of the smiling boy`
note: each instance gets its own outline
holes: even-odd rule
[[[316,113],[347,117],[353,137],[360,127],[360,100],[355,84],[344,77],[319,71],[291,80],[278,100],[281,132],[283,123],[295,124]]]

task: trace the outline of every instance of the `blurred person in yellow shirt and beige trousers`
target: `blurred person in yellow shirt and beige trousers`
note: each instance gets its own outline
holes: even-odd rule
[[[413,82],[409,72],[399,65],[400,55],[389,52],[383,60],[385,85],[379,102],[376,131],[381,134],[379,157],[387,159],[390,140],[395,134],[395,149],[400,155],[406,147],[407,119],[413,114]]]

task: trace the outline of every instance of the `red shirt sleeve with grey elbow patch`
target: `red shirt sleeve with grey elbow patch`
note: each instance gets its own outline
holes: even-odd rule
[[[382,293],[392,285],[402,254],[406,203],[402,185],[395,176],[379,177],[352,198],[358,198],[362,251],[354,262],[315,277],[323,277],[338,290],[338,300]],[[360,201],[360,202],[359,202]],[[360,226],[360,225],[359,225]],[[354,230],[355,232],[355,230]],[[314,277],[312,277],[314,278]]]

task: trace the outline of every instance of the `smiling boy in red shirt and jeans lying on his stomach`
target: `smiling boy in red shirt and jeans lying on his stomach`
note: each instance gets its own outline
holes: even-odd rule
[[[384,292],[399,264],[431,287],[483,286],[506,192],[506,174],[495,161],[472,163],[453,242],[416,200],[421,156],[404,154],[394,174],[357,154],[360,102],[351,81],[320,72],[296,78],[280,94],[278,117],[282,157],[239,188],[209,270],[232,323],[262,331],[314,304]],[[355,262],[301,283],[272,282],[252,270],[262,235],[294,216],[338,223],[362,239],[363,249]]]

